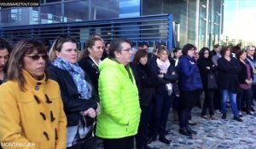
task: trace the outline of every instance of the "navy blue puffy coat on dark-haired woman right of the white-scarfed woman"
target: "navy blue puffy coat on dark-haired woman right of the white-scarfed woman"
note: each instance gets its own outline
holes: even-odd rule
[[[202,89],[201,76],[195,60],[189,55],[183,55],[178,64],[178,84],[183,91]]]

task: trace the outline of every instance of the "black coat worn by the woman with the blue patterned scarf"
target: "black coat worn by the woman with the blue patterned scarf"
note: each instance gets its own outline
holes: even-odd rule
[[[93,109],[97,108],[96,101],[98,100],[98,96],[96,95],[95,89],[92,88],[92,95],[89,100],[81,99],[77,86],[69,72],[63,71],[53,65],[49,65],[48,71],[49,78],[55,80],[60,85],[61,99],[67,116],[67,126],[78,125],[79,119],[83,118],[80,112],[86,111],[90,107]],[[91,85],[90,78],[86,74],[85,80]]]

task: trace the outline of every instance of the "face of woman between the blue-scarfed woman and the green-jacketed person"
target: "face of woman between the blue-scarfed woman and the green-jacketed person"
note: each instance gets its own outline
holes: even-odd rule
[[[88,49],[90,52],[90,56],[94,60],[100,60],[102,58],[104,43],[103,41],[97,40],[94,45]]]

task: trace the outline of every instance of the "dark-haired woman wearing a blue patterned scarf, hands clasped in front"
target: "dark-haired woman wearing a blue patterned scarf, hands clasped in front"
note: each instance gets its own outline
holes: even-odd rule
[[[98,113],[97,96],[89,76],[78,64],[76,41],[59,37],[49,52],[49,77],[59,83],[67,115],[67,148],[94,148],[93,123]]]

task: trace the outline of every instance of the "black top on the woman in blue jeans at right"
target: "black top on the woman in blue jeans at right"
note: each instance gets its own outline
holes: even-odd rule
[[[227,89],[232,93],[237,93],[240,87],[238,74],[241,66],[236,58],[231,56],[228,61],[224,57],[218,59],[218,89]]]

